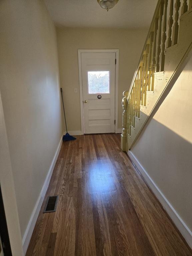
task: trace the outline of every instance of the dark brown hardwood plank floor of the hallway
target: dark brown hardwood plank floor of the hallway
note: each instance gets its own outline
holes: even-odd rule
[[[120,134],[76,137],[62,144],[26,255],[192,255]],[[57,210],[42,213],[49,195],[59,195]]]

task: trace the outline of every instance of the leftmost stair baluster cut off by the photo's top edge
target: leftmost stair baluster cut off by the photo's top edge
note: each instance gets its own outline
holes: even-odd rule
[[[162,46],[161,46],[161,71],[164,71],[165,65],[165,41],[166,41],[166,26],[167,26],[167,2],[164,1],[164,16],[163,16],[163,34],[162,34]]]

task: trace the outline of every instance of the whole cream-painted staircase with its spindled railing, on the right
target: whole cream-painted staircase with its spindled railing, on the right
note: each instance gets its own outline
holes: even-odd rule
[[[192,48],[192,0],[159,0],[129,91],[121,148],[128,152]],[[171,117],[170,117],[171,118]]]

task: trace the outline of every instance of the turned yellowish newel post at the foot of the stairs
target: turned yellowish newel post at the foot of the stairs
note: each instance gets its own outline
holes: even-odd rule
[[[126,141],[127,141],[127,96],[128,91],[123,92],[122,106],[123,106],[123,129],[121,133],[121,149],[126,151]]]

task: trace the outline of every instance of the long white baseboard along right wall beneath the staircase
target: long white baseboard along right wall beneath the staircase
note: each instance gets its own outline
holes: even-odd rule
[[[163,195],[161,190],[157,187],[155,182],[151,179],[149,174],[146,172],[146,170],[143,168],[143,166],[139,163],[137,158],[133,155],[133,153],[129,150],[127,152],[128,156],[131,158],[139,172],[142,174],[143,178],[155,194],[155,196],[158,198],[159,202],[165,209],[165,211],[168,213],[178,230],[181,232],[182,236],[185,238],[188,245],[192,248],[192,232],[187,227],[187,225],[184,223],[184,221],[181,219],[181,217],[178,215],[178,213],[175,211],[173,206],[170,204],[170,202],[167,200],[167,198]]]

